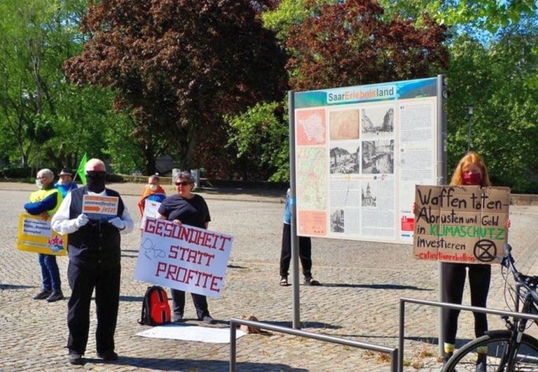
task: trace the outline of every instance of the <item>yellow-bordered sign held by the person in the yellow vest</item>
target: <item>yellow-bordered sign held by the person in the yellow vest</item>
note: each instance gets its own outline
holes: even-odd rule
[[[67,235],[57,234],[50,222],[41,216],[19,214],[17,249],[27,252],[65,256],[67,254]]]

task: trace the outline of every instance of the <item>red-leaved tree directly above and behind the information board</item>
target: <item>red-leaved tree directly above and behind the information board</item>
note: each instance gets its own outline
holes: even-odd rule
[[[396,17],[385,22],[373,0],[323,6],[307,0],[306,6],[310,16],[291,27],[287,41],[296,90],[422,78],[446,68],[446,29],[427,15],[421,25]]]

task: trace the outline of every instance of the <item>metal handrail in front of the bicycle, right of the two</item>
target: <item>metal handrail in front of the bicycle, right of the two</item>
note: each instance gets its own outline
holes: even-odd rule
[[[519,319],[532,319],[538,322],[538,315],[523,314],[522,312],[479,308],[478,306],[457,305],[455,303],[419,300],[418,298],[401,297],[400,298],[400,336],[399,336],[399,355],[398,355],[398,371],[399,372],[403,371],[403,338],[404,338],[405,326],[406,326],[405,324],[406,302],[417,303],[419,305],[435,306],[437,308],[481,312],[483,314],[502,315],[502,316],[519,318]]]

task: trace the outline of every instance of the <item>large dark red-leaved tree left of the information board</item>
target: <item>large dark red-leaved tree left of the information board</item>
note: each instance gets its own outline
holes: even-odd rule
[[[81,27],[89,41],[64,64],[69,79],[113,88],[133,135],[174,149],[181,169],[202,165],[195,150],[223,114],[287,88],[284,52],[249,0],[101,1]]]

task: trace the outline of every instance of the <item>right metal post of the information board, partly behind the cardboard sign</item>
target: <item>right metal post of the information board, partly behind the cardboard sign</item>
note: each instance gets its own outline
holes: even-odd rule
[[[437,76],[437,185],[446,185],[447,182],[447,172],[446,172],[446,164],[447,164],[447,156],[446,156],[446,109],[447,109],[447,103],[448,103],[448,79],[445,75],[438,75]],[[438,294],[437,298],[439,298],[439,302],[446,302],[446,298],[443,296],[443,287],[445,278],[443,275],[443,263],[439,262],[438,265],[439,270],[439,287],[438,287]],[[445,349],[444,349],[444,342],[445,342],[445,334],[444,334],[444,327],[443,324],[445,322],[445,319],[443,319],[443,308],[439,308],[439,311],[437,312],[439,315],[439,355],[444,355]]]

